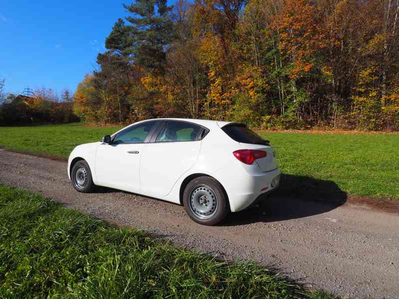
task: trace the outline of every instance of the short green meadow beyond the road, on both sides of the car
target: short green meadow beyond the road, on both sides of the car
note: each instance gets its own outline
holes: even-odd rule
[[[79,144],[99,141],[120,127],[81,124],[0,127],[0,147],[67,157]],[[276,148],[289,183],[282,190],[328,196],[323,186],[353,195],[399,199],[399,134],[260,132]],[[323,194],[324,192],[324,194]]]

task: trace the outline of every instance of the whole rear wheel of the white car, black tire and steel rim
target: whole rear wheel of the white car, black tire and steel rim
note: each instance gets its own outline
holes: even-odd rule
[[[187,184],[183,205],[190,218],[203,225],[218,224],[230,212],[223,187],[210,176],[197,177]]]

